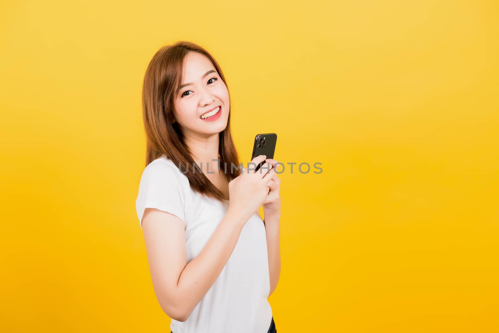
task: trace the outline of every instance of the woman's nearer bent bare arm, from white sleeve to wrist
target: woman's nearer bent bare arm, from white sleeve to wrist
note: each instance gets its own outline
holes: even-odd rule
[[[229,208],[204,249],[187,264],[184,222],[146,208],[142,225],[151,277],[158,302],[170,318],[189,318],[224,269],[247,220]]]

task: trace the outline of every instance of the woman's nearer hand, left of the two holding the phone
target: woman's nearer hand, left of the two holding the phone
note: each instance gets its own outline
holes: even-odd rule
[[[251,163],[258,165],[265,161],[265,158],[264,155],[258,155]],[[265,200],[270,190],[267,183],[274,173],[270,163],[263,164],[256,171],[243,167],[241,174],[229,182],[229,209],[241,214],[245,223]]]

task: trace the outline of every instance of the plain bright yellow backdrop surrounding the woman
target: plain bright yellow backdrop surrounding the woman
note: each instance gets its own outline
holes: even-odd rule
[[[4,1],[1,332],[169,332],[135,211],[177,40],[281,174],[278,332],[499,331],[496,1]]]

